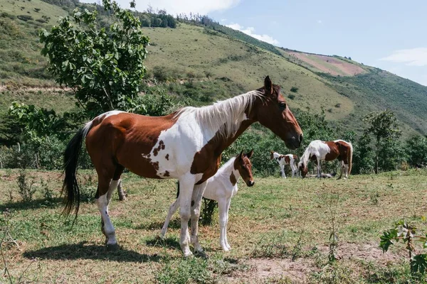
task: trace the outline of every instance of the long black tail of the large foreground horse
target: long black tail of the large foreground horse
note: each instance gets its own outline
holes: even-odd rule
[[[62,188],[62,193],[65,192],[65,207],[63,214],[68,217],[71,212],[75,211],[75,219],[77,219],[78,208],[80,207],[80,189],[78,188],[77,173],[78,156],[82,148],[84,130],[80,129],[78,133],[68,142],[64,153],[64,172],[65,178]]]

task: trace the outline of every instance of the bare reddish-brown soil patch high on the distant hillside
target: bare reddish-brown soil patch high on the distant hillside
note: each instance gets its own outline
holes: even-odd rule
[[[312,65],[313,67],[317,68],[318,70],[321,70],[322,72],[329,73],[330,75],[334,75],[334,76],[337,76],[337,75],[354,76],[354,75],[366,72],[362,67],[359,67],[349,62],[345,62],[343,60],[339,60],[337,58],[332,58],[330,56],[307,55],[305,53],[295,53],[295,52],[289,52],[288,54]],[[321,60],[322,62],[313,60],[310,57],[314,57],[317,60]]]

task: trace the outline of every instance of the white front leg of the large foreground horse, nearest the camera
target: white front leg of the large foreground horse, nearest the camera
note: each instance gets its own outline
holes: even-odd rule
[[[190,173],[179,178],[179,214],[181,217],[181,234],[179,236],[179,245],[181,246],[184,256],[191,256],[189,248],[189,219],[191,214],[191,195],[193,194],[194,183],[196,178]],[[192,229],[192,228],[191,228]]]

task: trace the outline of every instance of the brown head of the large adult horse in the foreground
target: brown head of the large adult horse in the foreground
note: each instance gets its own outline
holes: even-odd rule
[[[273,84],[270,77],[267,76],[264,80],[264,87],[258,91],[263,92],[263,98],[254,108],[255,117],[253,119],[285,141],[286,147],[292,150],[299,148],[302,142],[302,130],[286,104],[285,98],[280,92],[280,86]]]

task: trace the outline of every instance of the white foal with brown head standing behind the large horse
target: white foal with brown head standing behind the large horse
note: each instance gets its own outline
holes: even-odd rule
[[[225,163],[218,172],[208,180],[206,180],[206,189],[203,197],[209,200],[218,202],[219,213],[219,245],[224,251],[229,251],[231,246],[228,244],[227,239],[227,224],[228,224],[228,210],[230,209],[231,197],[237,194],[237,182],[240,177],[246,182],[248,187],[255,184],[252,176],[252,164],[249,160],[253,155],[253,150],[249,153],[241,151],[236,157],[231,158]],[[196,185],[199,187],[200,185]],[[179,189],[179,184],[178,184]],[[194,197],[193,197],[194,198]],[[167,226],[171,221],[172,215],[179,207],[179,192],[176,200],[169,207],[166,221],[164,222],[160,237],[164,239],[166,235]]]

